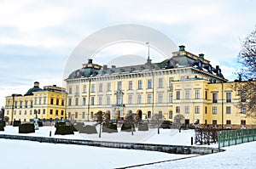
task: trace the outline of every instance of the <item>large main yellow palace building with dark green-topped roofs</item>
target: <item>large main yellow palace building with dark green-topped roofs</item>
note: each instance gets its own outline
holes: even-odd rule
[[[160,63],[117,67],[97,65],[92,59],[74,70],[67,82],[67,118],[92,121],[99,110],[111,119],[128,112],[150,120],[154,114],[174,121],[183,115],[185,124],[216,124],[244,127],[255,124],[247,117],[246,103],[237,84],[224,78],[204,54],[191,54],[184,46]]]

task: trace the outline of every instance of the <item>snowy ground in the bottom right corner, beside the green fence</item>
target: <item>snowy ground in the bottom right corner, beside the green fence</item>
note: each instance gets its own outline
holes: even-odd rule
[[[179,161],[163,162],[150,166],[134,167],[139,169],[169,169],[169,168],[225,168],[225,169],[255,169],[256,168],[256,142],[238,144],[224,148],[226,151],[200,155],[195,158]]]

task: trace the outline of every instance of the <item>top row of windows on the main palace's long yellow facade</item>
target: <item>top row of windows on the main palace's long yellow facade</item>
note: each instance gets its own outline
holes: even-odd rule
[[[169,78],[169,87],[173,87],[172,81],[173,81],[173,77],[170,77]],[[117,82],[117,90],[122,90],[122,83],[123,82]],[[158,79],[158,87],[159,88],[163,88],[164,87],[163,78],[159,78]],[[148,89],[153,88],[153,80],[152,79],[148,79],[148,81],[147,81],[147,88]],[[133,82],[129,81],[128,82],[128,90],[133,90],[133,89],[135,89],[134,86],[133,86]],[[143,80],[138,80],[137,81],[137,89],[143,89]],[[111,91],[111,82],[107,83],[107,91],[108,92]],[[90,92],[92,92],[92,93],[96,92],[96,85],[95,84],[91,84],[90,85]],[[99,84],[99,92],[103,92],[103,84],[102,83]],[[72,92],[72,87],[69,87],[68,93],[69,94],[73,93]],[[86,85],[83,86],[83,93],[87,93],[87,86]],[[79,95],[79,85],[76,86],[75,95],[77,95],[77,96]]]

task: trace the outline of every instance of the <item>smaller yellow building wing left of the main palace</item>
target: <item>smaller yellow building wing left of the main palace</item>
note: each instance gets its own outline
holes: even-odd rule
[[[32,121],[36,116],[35,112],[39,119],[45,121],[65,118],[66,96],[65,88],[54,85],[41,89],[39,83],[35,82],[34,87],[25,95],[12,94],[6,97],[5,116],[9,117],[9,122]]]

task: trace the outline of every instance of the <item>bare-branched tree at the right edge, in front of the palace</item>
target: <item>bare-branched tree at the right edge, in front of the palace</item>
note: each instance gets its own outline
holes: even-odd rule
[[[242,83],[237,87],[241,101],[246,99],[240,106],[246,106],[247,115],[256,116],[256,27],[242,42],[238,61],[242,65],[238,82]]]

